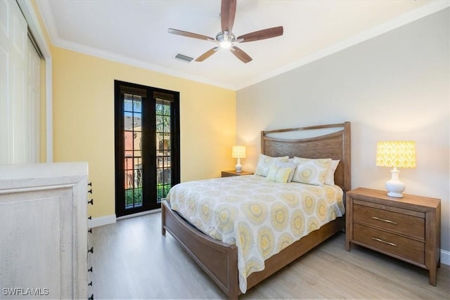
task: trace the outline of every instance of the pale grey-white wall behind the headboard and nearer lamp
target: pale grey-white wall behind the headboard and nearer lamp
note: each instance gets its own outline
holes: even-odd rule
[[[405,193],[442,200],[442,249],[450,251],[450,9],[237,92],[236,143],[255,170],[262,130],[352,122],[352,188],[384,190],[377,141],[416,141]],[[343,247],[343,246],[342,246]]]

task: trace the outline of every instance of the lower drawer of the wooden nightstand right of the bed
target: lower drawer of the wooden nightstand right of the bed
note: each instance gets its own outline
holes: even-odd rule
[[[425,243],[423,242],[359,224],[354,224],[353,240],[416,263],[425,263]]]

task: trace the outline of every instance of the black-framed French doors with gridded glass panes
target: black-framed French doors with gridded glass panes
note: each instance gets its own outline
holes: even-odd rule
[[[115,80],[115,212],[161,207],[180,182],[179,92]]]

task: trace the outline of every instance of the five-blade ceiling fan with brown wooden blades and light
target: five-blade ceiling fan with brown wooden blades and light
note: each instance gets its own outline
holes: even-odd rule
[[[205,39],[206,41],[212,41],[217,44],[214,48],[203,53],[195,61],[203,61],[212,54],[216,53],[219,48],[226,48],[231,51],[237,58],[243,61],[243,63],[248,63],[252,58],[236,46],[238,43],[245,43],[247,41],[259,41],[261,39],[269,39],[271,37],[278,37],[283,35],[283,26],[267,28],[265,30],[258,30],[255,32],[250,32],[248,34],[236,37],[233,32],[234,17],[236,15],[236,0],[222,0],[220,9],[220,21],[222,31],[216,35],[216,38],[207,37],[203,34],[196,34],[192,32],[186,32],[183,30],[175,30],[169,28],[169,33],[178,34],[183,37],[192,37],[194,39]]]

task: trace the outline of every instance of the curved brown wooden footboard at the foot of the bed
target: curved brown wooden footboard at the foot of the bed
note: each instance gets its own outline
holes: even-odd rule
[[[170,209],[167,201],[161,204],[162,235],[166,230],[180,242],[192,259],[203,268],[229,299],[238,299],[238,249],[236,245],[214,240],[189,226]]]

